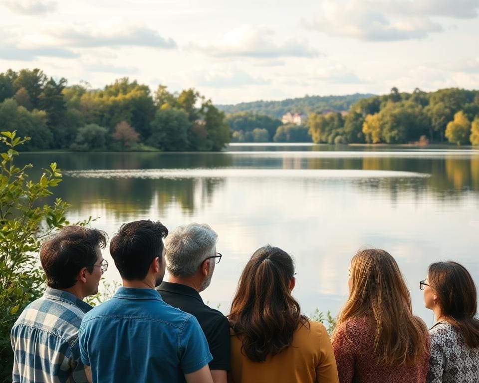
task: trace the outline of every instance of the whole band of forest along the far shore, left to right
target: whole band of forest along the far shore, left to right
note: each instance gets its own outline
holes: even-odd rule
[[[25,150],[220,151],[233,142],[411,142],[479,145],[479,91],[458,88],[381,96],[306,96],[282,105],[286,123],[257,109],[215,106],[193,88],[170,92],[128,77],[103,89],[68,85],[40,69],[0,73],[0,130],[31,137]],[[238,104],[238,110],[253,103]],[[223,110],[220,110],[223,109]],[[308,112],[306,115],[305,112]]]

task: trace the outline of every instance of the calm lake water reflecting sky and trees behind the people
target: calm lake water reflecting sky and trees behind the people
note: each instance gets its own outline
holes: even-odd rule
[[[428,324],[419,281],[438,260],[463,263],[479,283],[479,151],[320,145],[233,145],[222,153],[22,154],[35,168],[56,161],[56,195],[70,221],[110,237],[123,222],[161,220],[170,230],[208,223],[223,254],[210,305],[228,313],[240,272],[255,249],[293,255],[302,310],[334,314],[344,304],[351,257],[384,248],[407,279],[413,309]],[[120,280],[110,261],[105,277]]]

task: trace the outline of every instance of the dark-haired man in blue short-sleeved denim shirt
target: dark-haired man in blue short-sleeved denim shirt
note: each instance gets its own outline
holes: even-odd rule
[[[83,318],[81,360],[93,383],[213,383],[213,359],[198,321],[167,305],[155,290],[165,274],[160,222],[120,227],[110,253],[123,279],[112,299]]]

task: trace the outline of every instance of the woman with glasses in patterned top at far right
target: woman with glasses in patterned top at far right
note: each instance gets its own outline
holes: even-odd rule
[[[436,324],[429,330],[428,383],[479,382],[477,292],[468,270],[457,262],[429,266],[419,283]]]

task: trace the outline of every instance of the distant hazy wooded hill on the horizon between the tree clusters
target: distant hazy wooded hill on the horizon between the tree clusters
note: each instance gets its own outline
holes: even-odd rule
[[[305,96],[300,98],[288,98],[282,101],[253,101],[242,102],[236,105],[216,105],[226,113],[255,112],[274,118],[281,118],[286,112],[293,113],[321,113],[323,111],[343,111],[357,100],[368,98],[374,94],[349,94],[345,96]]]

